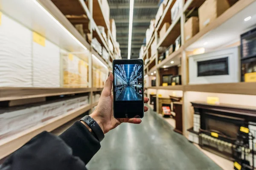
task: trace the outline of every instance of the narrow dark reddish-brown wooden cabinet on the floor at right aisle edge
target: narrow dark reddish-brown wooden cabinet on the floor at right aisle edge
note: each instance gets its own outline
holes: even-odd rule
[[[175,112],[175,132],[183,134],[182,128],[182,102],[173,102],[173,111]]]

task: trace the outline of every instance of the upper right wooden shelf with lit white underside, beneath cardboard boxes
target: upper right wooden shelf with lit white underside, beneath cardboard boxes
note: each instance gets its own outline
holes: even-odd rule
[[[255,14],[255,8],[255,0],[239,0],[198,34],[186,41],[184,49],[187,51],[201,47],[216,49],[229,45],[230,42],[239,41],[239,35],[255,23],[255,19],[244,21],[244,18]]]

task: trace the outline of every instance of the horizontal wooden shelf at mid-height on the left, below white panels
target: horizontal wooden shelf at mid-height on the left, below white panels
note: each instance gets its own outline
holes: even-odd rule
[[[91,88],[0,88],[0,101],[90,92]]]

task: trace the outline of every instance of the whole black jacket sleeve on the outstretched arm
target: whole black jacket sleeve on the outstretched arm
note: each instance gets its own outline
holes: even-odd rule
[[[99,141],[80,122],[59,137],[42,132],[0,165],[0,170],[86,170]]]

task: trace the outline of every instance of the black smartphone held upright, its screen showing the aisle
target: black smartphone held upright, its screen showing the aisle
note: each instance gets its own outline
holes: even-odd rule
[[[142,59],[113,60],[115,118],[143,118],[144,69]]]

